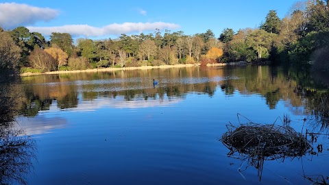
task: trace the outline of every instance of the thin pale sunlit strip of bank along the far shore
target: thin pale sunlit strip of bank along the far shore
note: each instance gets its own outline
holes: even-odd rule
[[[225,66],[226,64],[207,64],[207,66]],[[21,73],[21,76],[32,76],[32,75],[52,75],[52,74],[65,74],[65,73],[95,73],[102,71],[128,71],[128,70],[145,70],[145,69],[167,69],[167,68],[182,68],[200,66],[200,64],[175,64],[175,65],[160,65],[160,66],[137,66],[137,67],[123,67],[123,68],[102,68],[102,69],[86,69],[86,70],[74,70],[74,71],[50,71],[45,73]]]

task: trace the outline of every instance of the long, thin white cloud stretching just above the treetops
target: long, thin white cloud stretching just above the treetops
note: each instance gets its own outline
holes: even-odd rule
[[[136,32],[154,31],[155,29],[177,29],[180,27],[174,23],[113,23],[104,27],[93,27],[90,25],[63,25],[58,27],[27,27],[30,32],[39,32],[44,36],[51,32],[69,33],[72,36],[109,36],[120,34],[133,34]]]

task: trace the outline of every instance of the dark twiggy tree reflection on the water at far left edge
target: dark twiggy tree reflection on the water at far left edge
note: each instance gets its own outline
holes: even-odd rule
[[[0,79],[0,184],[27,184],[26,176],[36,160],[36,142],[14,121],[23,90],[15,74]]]

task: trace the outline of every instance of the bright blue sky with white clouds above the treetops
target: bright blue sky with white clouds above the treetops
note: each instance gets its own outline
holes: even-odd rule
[[[269,10],[283,18],[295,0],[0,0],[0,26],[25,26],[49,36],[66,32],[75,38],[117,38],[120,34],[153,33],[156,28],[186,35],[211,29],[219,37],[224,28],[256,28]]]

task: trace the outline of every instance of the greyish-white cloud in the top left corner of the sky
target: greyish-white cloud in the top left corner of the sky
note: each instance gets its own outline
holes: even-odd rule
[[[58,10],[51,8],[38,8],[19,3],[0,3],[0,26],[13,29],[18,26],[33,25],[38,21],[50,21],[58,14]]]

